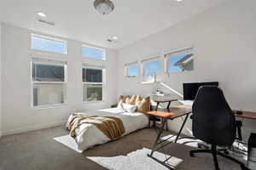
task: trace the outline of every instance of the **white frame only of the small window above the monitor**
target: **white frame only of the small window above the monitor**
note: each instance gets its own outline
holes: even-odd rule
[[[176,50],[169,50],[169,51],[166,51],[165,54],[164,54],[164,57],[165,57],[165,72],[167,74],[177,74],[177,73],[182,73],[184,71],[180,71],[180,72],[168,72],[168,59],[170,57],[174,57],[174,56],[177,56],[179,54],[186,54],[186,53],[192,53],[193,54],[193,57],[194,57],[194,48],[191,47],[191,48],[179,48],[179,49],[176,49]]]

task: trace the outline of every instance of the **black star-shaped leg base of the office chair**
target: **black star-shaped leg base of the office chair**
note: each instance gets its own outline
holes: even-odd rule
[[[213,158],[213,161],[214,161],[215,170],[220,170],[220,168],[218,167],[218,159],[217,159],[217,156],[223,156],[224,158],[227,158],[227,159],[229,159],[230,161],[236,162],[237,164],[240,165],[241,170],[250,170],[249,168],[247,168],[247,167],[244,165],[244,163],[242,163],[241,161],[236,160],[235,158],[233,158],[233,157],[231,157],[231,156],[225,155],[224,153],[218,151],[218,150],[216,149],[216,146],[213,146],[213,145],[212,145],[212,149],[211,149],[211,150],[190,150],[189,155],[190,155],[191,157],[195,157],[195,154],[196,154],[196,153],[210,153],[210,154],[212,154],[212,158]]]

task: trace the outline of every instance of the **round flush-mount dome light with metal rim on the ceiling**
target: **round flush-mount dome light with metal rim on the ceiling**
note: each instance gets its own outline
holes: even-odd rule
[[[93,5],[101,14],[110,14],[114,8],[114,5],[110,0],[95,0]]]

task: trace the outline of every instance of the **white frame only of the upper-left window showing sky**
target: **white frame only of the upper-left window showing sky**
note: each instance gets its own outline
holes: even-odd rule
[[[55,53],[55,52],[51,52],[51,51],[47,51],[47,50],[40,50],[40,49],[32,48],[32,37],[40,37],[40,38],[44,38],[44,39],[49,40],[49,41],[62,42],[64,44],[64,55],[67,55],[67,41],[61,40],[61,39],[58,39],[58,38],[55,38],[55,37],[47,37],[47,36],[44,36],[44,35],[31,33],[30,48],[32,50],[35,50],[35,51],[40,51],[40,52],[50,53],[50,54],[62,54],[62,53]]]

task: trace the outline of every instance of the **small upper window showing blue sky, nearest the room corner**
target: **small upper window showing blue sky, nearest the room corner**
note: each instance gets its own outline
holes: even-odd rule
[[[82,56],[89,59],[105,60],[105,50],[102,48],[92,48],[83,46]]]

